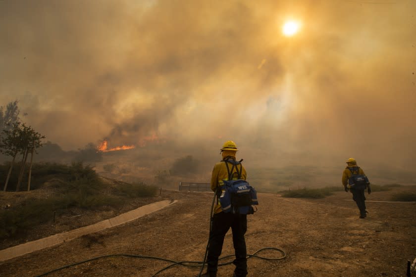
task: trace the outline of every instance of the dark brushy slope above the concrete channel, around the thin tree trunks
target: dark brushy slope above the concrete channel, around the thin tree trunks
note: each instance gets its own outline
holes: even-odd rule
[[[4,184],[8,165],[0,166],[0,182]],[[15,189],[18,168],[11,177],[8,189]],[[34,164],[32,185],[41,190],[30,192],[2,192],[0,210],[0,239],[24,236],[38,225],[53,221],[55,216],[71,208],[105,210],[124,205],[126,199],[154,196],[156,186],[143,183],[114,185],[104,180],[93,167],[82,163],[62,165],[56,163]]]

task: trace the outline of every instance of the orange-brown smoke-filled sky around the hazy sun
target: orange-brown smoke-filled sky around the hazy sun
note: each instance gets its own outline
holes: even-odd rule
[[[0,1],[0,103],[64,149],[150,137],[413,168],[416,2]],[[301,31],[284,37],[293,18]]]

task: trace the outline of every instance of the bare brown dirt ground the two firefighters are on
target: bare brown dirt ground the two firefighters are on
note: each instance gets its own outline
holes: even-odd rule
[[[415,187],[397,188],[410,189],[415,191]],[[389,200],[394,192],[373,192],[367,200]],[[128,224],[0,262],[0,276],[35,277],[110,254],[201,261],[208,239],[212,196],[209,192],[162,190],[161,195],[142,199],[137,205],[159,199],[176,199],[179,202]],[[369,215],[366,219],[359,219],[355,203],[347,201],[352,198],[350,193],[336,192],[324,199],[314,200],[265,193],[259,193],[258,198],[259,210],[248,220],[248,253],[263,247],[278,247],[286,251],[287,257],[277,261],[250,258],[249,276],[403,277],[407,260],[413,261],[416,257],[415,203],[367,202]],[[128,208],[135,208],[130,206]],[[86,215],[84,222],[83,215],[74,219],[83,225],[114,216],[119,211],[106,213]],[[46,227],[39,230],[45,233]],[[32,234],[30,239],[33,237],[36,235]],[[3,246],[5,244],[3,242]],[[233,254],[230,232],[225,237],[222,256],[228,254]],[[260,254],[278,257],[278,253],[269,250]],[[169,263],[157,260],[108,257],[47,276],[150,277],[167,265]],[[218,277],[231,277],[233,270],[233,265],[219,267]],[[198,273],[196,268],[175,266],[157,276],[193,277]]]

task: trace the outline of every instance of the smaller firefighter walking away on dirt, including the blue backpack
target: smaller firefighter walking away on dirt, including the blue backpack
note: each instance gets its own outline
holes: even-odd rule
[[[347,160],[347,167],[342,173],[342,185],[344,185],[346,192],[350,190],[353,194],[353,200],[360,210],[360,218],[365,218],[368,212],[365,208],[364,190],[367,189],[368,194],[370,194],[371,188],[363,169],[357,166],[357,161],[354,158]]]

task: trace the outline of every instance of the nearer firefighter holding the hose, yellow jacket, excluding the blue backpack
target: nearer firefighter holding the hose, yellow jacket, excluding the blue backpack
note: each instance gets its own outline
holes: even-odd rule
[[[221,148],[222,160],[215,164],[211,176],[211,189],[217,191],[217,188],[223,184],[223,180],[228,180],[228,171],[226,160],[236,160],[237,145],[232,140],[228,140]],[[237,168],[231,172],[233,179],[237,179]],[[246,180],[247,173],[242,166],[240,179]],[[233,264],[236,266],[233,277],[247,276],[247,249],[244,235],[247,231],[247,215],[224,213],[217,199],[217,205],[214,207],[214,215],[212,218],[212,231],[209,234],[209,246],[207,273],[203,277],[216,277],[218,267],[218,257],[221,255],[222,244],[227,231],[231,228],[233,233],[233,245],[235,251],[235,260]]]

